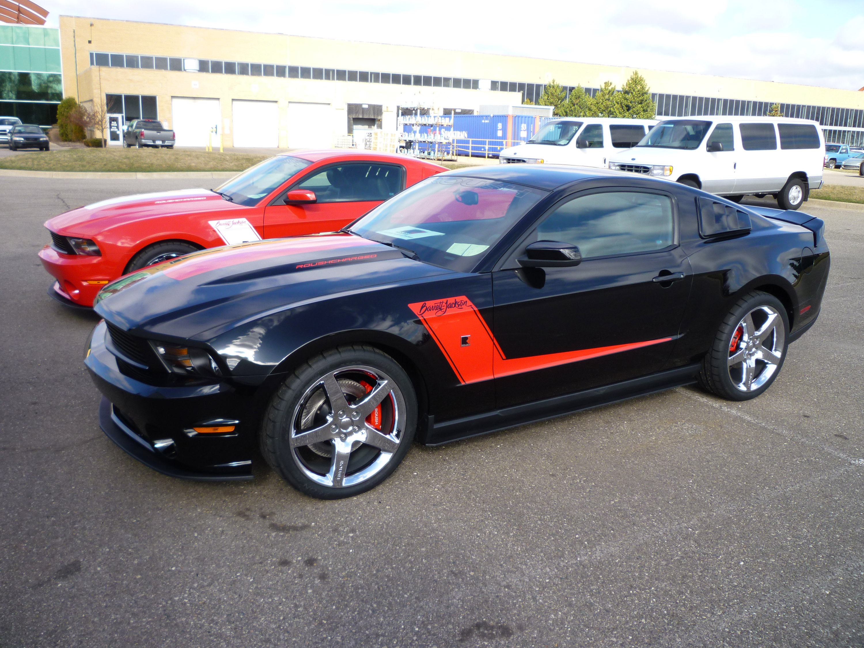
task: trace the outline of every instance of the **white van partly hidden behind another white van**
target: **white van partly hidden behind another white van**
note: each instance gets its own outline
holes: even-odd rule
[[[654,124],[656,119],[557,118],[528,142],[502,150],[499,162],[605,168],[610,156],[635,146]]]

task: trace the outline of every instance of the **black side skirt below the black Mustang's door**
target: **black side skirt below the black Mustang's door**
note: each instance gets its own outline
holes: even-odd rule
[[[487,435],[516,425],[546,421],[556,416],[655,394],[672,387],[696,383],[698,373],[698,364],[687,365],[666,372],[653,373],[642,378],[625,380],[621,383],[607,384],[593,390],[544,398],[542,401],[524,403],[503,410],[493,410],[486,412],[486,414],[457,418],[453,421],[436,422],[430,426],[424,445],[440,446],[444,443],[461,441],[473,436]],[[431,416],[429,418],[434,420]]]

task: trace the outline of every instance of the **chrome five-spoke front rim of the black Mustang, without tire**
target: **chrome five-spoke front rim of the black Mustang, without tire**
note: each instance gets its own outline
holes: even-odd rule
[[[393,379],[371,366],[342,367],[321,376],[297,403],[291,454],[321,486],[353,486],[387,466],[404,429],[404,398]]]

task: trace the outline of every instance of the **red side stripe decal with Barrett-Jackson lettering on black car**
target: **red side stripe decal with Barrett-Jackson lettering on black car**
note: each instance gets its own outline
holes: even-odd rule
[[[671,338],[646,340],[594,349],[579,349],[563,353],[547,353],[527,358],[505,358],[480,311],[465,295],[448,297],[433,302],[416,302],[410,308],[422,321],[435,344],[441,349],[461,384],[479,383],[481,380],[533,372],[579,360],[600,358],[668,342]],[[467,346],[462,339],[467,336]]]

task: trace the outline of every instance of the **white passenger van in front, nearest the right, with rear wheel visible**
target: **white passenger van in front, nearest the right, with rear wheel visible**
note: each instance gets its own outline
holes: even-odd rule
[[[806,119],[677,118],[660,122],[634,148],[610,158],[609,168],[736,202],[746,194],[771,194],[782,209],[797,209],[810,189],[822,186],[823,149],[819,124]]]

